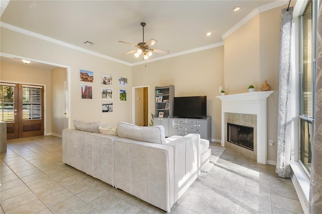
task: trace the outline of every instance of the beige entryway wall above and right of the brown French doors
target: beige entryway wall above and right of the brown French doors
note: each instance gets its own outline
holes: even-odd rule
[[[45,134],[51,132],[51,80],[48,69],[35,68],[31,64],[13,64],[2,62],[1,66],[1,81],[44,85],[44,128]]]

